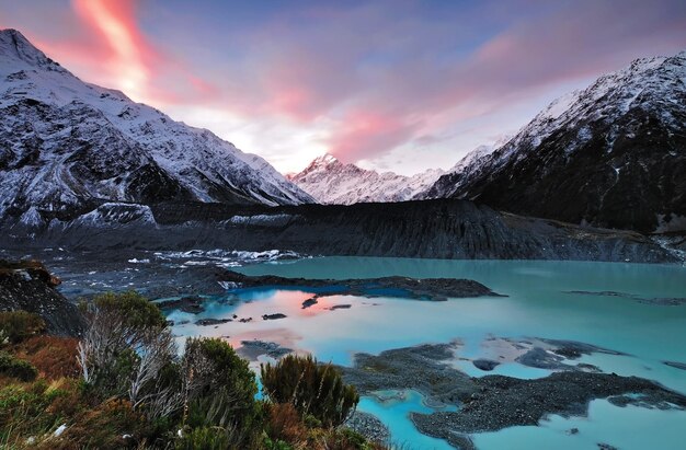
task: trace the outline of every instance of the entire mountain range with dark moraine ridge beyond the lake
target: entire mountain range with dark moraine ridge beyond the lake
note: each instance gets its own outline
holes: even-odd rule
[[[323,155],[287,180],[208,130],[79,80],[5,30],[0,245],[675,261],[683,239],[666,249],[594,227],[686,229],[685,55],[602,77],[447,173]]]

